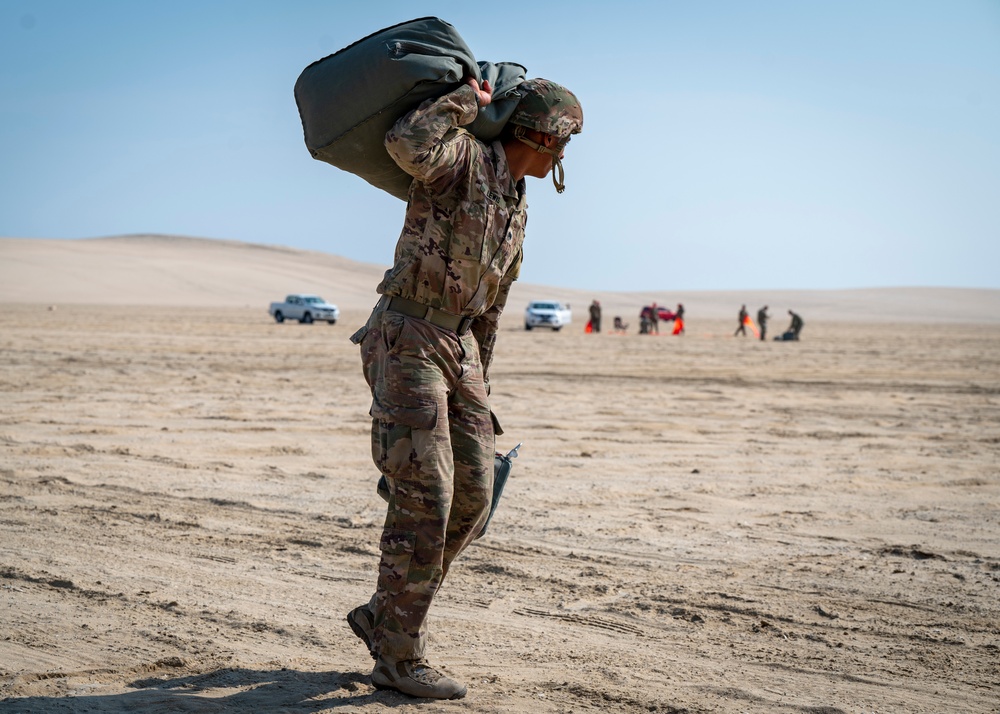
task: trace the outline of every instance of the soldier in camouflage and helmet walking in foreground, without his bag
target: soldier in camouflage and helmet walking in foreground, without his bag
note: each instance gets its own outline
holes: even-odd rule
[[[372,683],[415,697],[458,699],[466,688],[425,660],[426,617],[448,569],[486,522],[495,434],[489,367],[497,323],[521,266],[524,177],[552,171],[583,111],[544,79],[490,144],[462,127],[492,101],[469,78],[421,104],[386,135],[414,180],[395,262],[377,290],[361,347],[372,391],[372,457],[389,486],[375,594],[347,621],[376,660]]]

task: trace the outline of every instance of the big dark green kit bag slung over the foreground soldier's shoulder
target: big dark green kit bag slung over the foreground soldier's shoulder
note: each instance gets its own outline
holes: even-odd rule
[[[384,144],[396,120],[425,99],[456,89],[466,77],[488,79],[493,102],[466,128],[492,141],[514,113],[526,71],[512,62],[477,62],[454,27],[423,17],[313,62],[295,82],[295,103],[314,159],[405,201],[412,179]]]

